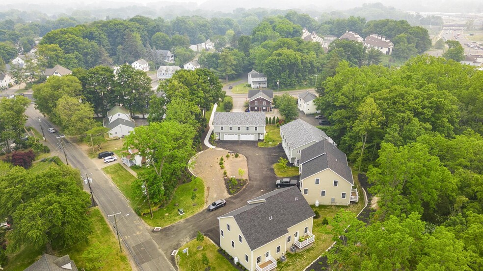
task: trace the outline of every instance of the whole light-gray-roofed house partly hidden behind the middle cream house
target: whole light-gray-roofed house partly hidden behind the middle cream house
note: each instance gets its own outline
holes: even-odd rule
[[[280,126],[280,136],[282,137],[282,148],[289,162],[296,166],[300,164],[300,153],[303,149],[321,140],[328,140],[335,145],[334,141],[321,129],[301,119]]]

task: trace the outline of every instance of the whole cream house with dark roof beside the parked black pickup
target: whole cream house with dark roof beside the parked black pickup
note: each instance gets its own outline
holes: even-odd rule
[[[358,202],[346,154],[321,140],[300,155],[300,191],[309,204],[349,205]]]

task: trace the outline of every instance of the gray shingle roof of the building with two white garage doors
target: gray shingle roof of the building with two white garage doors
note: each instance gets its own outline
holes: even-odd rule
[[[215,112],[213,125],[265,126],[265,113]]]

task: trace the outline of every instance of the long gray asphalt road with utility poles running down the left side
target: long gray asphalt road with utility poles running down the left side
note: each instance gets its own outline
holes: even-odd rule
[[[51,155],[56,155],[65,163],[63,152],[61,152],[60,141],[57,138],[59,134],[56,132],[51,134],[47,131],[50,127],[55,127],[44,116],[34,109],[33,103],[27,109],[27,126],[34,127],[42,133],[39,126],[44,130],[46,143],[51,151]],[[78,168],[81,175],[85,174],[92,178],[91,183],[94,193],[94,199],[99,204],[104,215],[121,213],[117,215],[117,226],[119,233],[124,241],[126,247],[130,251],[130,255],[136,261],[140,270],[143,271],[169,271],[175,270],[171,263],[165,256],[164,251],[161,251],[158,244],[151,238],[150,230],[144,226],[140,218],[136,215],[133,209],[129,206],[126,198],[122,195],[119,189],[107,178],[103,171],[101,171],[94,162],[88,158],[76,145],[72,144],[68,138],[65,142],[65,153],[69,165]],[[87,184],[84,184],[84,190],[89,191]],[[114,225],[114,217],[107,217],[110,224]],[[113,226],[114,227],[114,226]]]

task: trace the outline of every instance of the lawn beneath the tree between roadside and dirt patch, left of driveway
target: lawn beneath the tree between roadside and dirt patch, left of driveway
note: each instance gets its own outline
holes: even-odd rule
[[[197,190],[193,191],[195,188]],[[193,194],[196,195],[194,200],[191,199]],[[142,219],[150,226],[168,226],[196,214],[204,208],[204,203],[205,185],[203,180],[200,178],[193,178],[192,181],[178,186],[171,201],[163,208],[153,212],[153,218],[151,218],[150,215],[145,215],[142,216]],[[178,204],[178,206],[175,206],[174,204]],[[193,206],[193,204],[195,205]],[[185,211],[184,215],[180,216],[178,214],[179,208]],[[144,209],[144,212],[147,211],[147,209]]]

